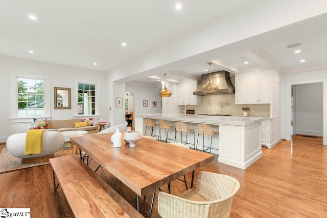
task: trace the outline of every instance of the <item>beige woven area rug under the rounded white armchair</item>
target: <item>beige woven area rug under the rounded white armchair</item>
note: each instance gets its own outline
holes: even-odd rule
[[[72,154],[73,148],[60,149],[55,153],[55,157],[60,157],[64,155]],[[41,162],[41,163],[21,163],[21,159],[12,156],[7,148],[3,148],[0,153],[0,173],[9,172],[13,170],[19,170],[23,168],[36,167],[40,165],[49,164],[50,161]]]

